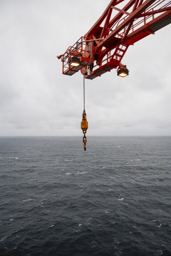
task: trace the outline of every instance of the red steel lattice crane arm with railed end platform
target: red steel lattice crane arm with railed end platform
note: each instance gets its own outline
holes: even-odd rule
[[[71,76],[81,70],[94,79],[116,69],[130,45],[170,23],[171,1],[112,0],[88,33],[62,55],[62,73]],[[78,67],[69,66],[72,55],[79,57]]]

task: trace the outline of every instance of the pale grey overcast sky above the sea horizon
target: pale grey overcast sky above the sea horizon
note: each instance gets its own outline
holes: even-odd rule
[[[82,136],[83,76],[56,55],[110,0],[0,0],[0,136]],[[131,46],[116,70],[85,80],[87,135],[171,135],[170,25]]]

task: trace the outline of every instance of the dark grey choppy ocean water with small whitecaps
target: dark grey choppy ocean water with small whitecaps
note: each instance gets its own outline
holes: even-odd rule
[[[0,255],[171,255],[171,137],[0,143]]]

